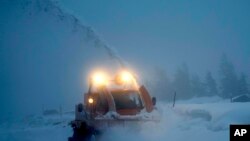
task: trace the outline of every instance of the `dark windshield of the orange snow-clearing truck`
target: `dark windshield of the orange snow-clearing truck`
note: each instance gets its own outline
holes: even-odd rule
[[[116,109],[141,109],[142,101],[138,92],[136,91],[117,91],[111,92]]]

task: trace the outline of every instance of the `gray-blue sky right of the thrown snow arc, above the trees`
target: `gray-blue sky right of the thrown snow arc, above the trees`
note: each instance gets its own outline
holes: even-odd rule
[[[226,53],[237,71],[250,74],[247,0],[61,1],[134,65],[173,72],[186,62],[193,72],[217,73],[219,58]]]

